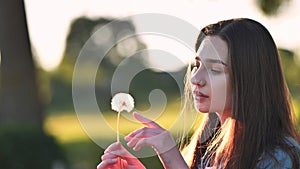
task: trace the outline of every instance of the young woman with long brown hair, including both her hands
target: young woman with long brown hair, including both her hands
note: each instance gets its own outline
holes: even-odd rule
[[[168,169],[299,169],[290,95],[267,29],[251,19],[220,21],[201,30],[196,51],[186,89],[206,114],[190,143],[180,152],[168,131],[134,113],[147,127],[125,137],[127,145],[153,147]],[[120,143],[106,149],[97,168],[120,164],[145,168]]]

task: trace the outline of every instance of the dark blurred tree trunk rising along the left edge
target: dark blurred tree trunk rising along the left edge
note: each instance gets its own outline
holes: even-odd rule
[[[42,125],[23,0],[0,0],[0,124]]]

